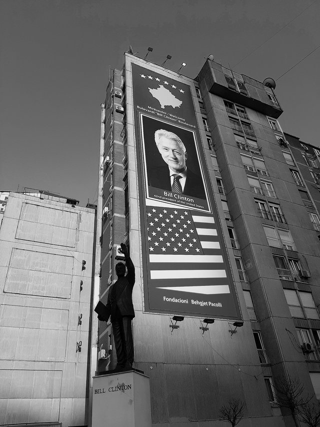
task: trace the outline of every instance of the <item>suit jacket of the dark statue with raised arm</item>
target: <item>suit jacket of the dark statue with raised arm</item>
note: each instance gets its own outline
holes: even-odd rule
[[[116,314],[134,317],[132,304],[132,289],[135,281],[134,265],[130,257],[125,259],[127,274],[119,277],[110,287],[106,309],[111,315],[111,322],[115,320]]]

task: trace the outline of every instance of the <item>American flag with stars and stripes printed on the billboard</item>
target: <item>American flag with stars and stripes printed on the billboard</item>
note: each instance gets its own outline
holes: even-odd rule
[[[212,214],[147,206],[151,286],[228,294],[228,278]]]

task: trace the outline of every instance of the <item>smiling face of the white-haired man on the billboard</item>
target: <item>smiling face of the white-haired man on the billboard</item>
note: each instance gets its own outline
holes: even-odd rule
[[[161,136],[158,142],[158,150],[162,159],[175,172],[183,172],[185,169],[186,153],[173,139]]]

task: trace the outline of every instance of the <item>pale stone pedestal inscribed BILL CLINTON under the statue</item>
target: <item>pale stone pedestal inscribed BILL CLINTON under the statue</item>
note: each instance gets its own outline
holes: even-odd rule
[[[93,377],[92,427],[151,427],[149,378],[143,373]]]

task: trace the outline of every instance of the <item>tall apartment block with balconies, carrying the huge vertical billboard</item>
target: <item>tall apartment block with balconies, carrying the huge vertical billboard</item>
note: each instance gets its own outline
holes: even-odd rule
[[[275,397],[283,378],[320,397],[319,163],[312,153],[306,178],[270,82],[210,59],[190,79],[130,54],[110,76],[99,296],[106,303],[124,241],[136,271],[134,367],[150,377],[152,425],[220,426],[232,397],[244,402],[244,425],[293,425]],[[179,189],[166,174],[185,165]],[[97,371],[113,368],[105,322],[97,350]]]

